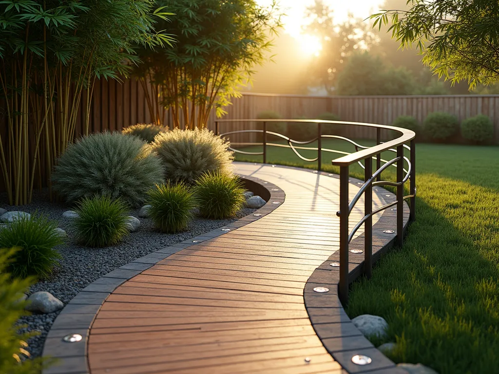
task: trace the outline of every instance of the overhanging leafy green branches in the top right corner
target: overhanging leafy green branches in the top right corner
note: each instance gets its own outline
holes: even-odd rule
[[[385,9],[371,16],[374,26],[391,26],[403,48],[413,44],[423,63],[452,83],[499,79],[499,2],[489,0],[409,0],[408,10]]]

